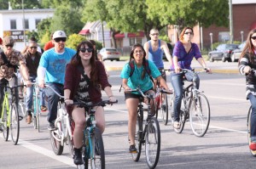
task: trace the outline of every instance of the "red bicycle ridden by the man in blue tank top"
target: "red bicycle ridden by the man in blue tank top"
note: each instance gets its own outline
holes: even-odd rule
[[[167,69],[168,70],[168,69]],[[161,76],[165,75],[166,69],[160,70]],[[155,85],[155,91],[156,91],[156,111],[155,111],[155,116],[156,118],[158,118],[158,111],[160,110],[160,115],[161,115],[161,119],[164,123],[164,125],[167,125],[168,123],[168,97],[167,97],[167,93],[163,92],[161,90],[160,87],[160,82],[156,82]]]

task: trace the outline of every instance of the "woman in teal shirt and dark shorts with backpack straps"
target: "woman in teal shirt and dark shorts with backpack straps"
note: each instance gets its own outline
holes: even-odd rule
[[[150,75],[146,73],[146,52],[141,44],[136,44],[133,46],[130,54],[130,61],[134,63],[134,72],[130,76],[131,66],[129,63],[123,68],[120,77],[122,78],[122,87],[125,91],[131,89],[136,89],[141,87],[144,93],[154,94],[153,83],[150,80],[150,76],[153,76],[160,82],[160,85],[166,90],[169,90],[169,87],[166,85],[166,81],[161,76],[160,71],[154,65],[153,62],[148,60],[148,67],[150,69]],[[137,152],[134,142],[134,136],[136,132],[136,122],[137,122],[137,106],[139,104],[139,93],[125,93],[125,103],[129,113],[128,120],[128,132],[130,139],[130,148],[131,153]],[[145,103],[147,100],[144,100]]]

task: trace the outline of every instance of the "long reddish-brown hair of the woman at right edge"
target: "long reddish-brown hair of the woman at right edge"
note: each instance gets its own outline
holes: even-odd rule
[[[253,47],[253,43],[252,43],[252,40],[251,40],[251,37],[253,36],[253,33],[256,33],[256,29],[253,29],[252,31],[250,31],[248,33],[247,42],[246,42],[244,48],[241,51],[241,55],[240,55],[240,59],[239,59],[238,63],[240,63],[241,58],[246,54],[248,54],[250,62],[254,63],[253,57],[254,57],[254,49],[255,48]]]

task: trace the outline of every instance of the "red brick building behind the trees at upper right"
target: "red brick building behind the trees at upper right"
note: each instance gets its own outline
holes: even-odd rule
[[[232,11],[234,30],[233,40],[239,42],[245,41],[248,32],[256,28],[256,1],[232,0]],[[204,28],[195,25],[193,30],[195,33],[193,42],[197,43],[201,49],[211,49],[211,36],[212,43],[230,41],[229,27],[211,25],[208,28]],[[177,33],[175,32],[177,32],[177,27],[175,25],[169,25],[168,37],[172,42],[177,42]]]

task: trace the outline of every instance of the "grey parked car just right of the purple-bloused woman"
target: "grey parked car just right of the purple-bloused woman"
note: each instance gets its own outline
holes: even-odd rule
[[[217,48],[208,53],[208,59],[210,62],[213,62],[214,60],[222,60],[223,62],[228,60],[230,62],[231,53],[236,48],[238,48],[238,44],[219,44]]]

